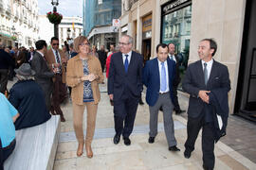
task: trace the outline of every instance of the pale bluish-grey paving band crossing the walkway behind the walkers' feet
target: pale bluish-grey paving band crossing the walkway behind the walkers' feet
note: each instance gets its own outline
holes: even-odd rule
[[[174,129],[181,129],[186,128],[182,123],[179,121],[174,121]],[[163,123],[158,123],[158,132],[164,131]],[[149,126],[135,126],[132,135],[137,134],[148,134],[149,133]],[[83,131],[85,136],[86,131]],[[94,139],[103,139],[103,138],[112,138],[115,136],[116,132],[114,128],[97,128],[95,129]],[[76,141],[76,135],[74,131],[62,132],[60,134],[60,143],[63,142],[71,142]]]

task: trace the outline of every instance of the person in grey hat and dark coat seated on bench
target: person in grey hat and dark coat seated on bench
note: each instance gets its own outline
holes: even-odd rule
[[[28,63],[23,63],[14,71],[19,80],[9,91],[9,102],[20,113],[14,124],[16,130],[45,123],[51,115],[46,109],[42,88],[33,80],[35,72]]]

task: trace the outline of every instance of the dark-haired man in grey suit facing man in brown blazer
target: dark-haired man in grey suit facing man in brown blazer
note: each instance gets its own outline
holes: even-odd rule
[[[50,110],[50,97],[53,90],[52,77],[54,72],[51,72],[46,63],[46,41],[40,40],[35,43],[37,51],[31,60],[31,68],[36,72],[35,81],[42,87],[46,97],[46,107]]]

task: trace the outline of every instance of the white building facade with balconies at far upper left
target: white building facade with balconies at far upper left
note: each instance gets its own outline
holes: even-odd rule
[[[39,33],[37,0],[0,0],[0,15],[1,42],[34,46]]]

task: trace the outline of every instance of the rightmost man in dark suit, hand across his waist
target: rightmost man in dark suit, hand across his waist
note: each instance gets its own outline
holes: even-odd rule
[[[210,91],[230,90],[228,67],[212,59],[217,50],[217,43],[212,39],[204,39],[199,43],[197,60],[189,65],[182,82],[182,88],[190,93],[185,158],[189,159],[194,149],[200,128],[202,131],[203,168],[213,169],[214,157],[214,125],[213,111],[210,104]]]

